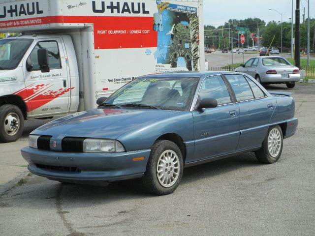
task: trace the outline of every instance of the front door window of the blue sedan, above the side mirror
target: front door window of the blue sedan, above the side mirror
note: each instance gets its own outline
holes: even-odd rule
[[[215,98],[218,101],[218,105],[231,102],[230,94],[220,75],[208,77],[203,81],[199,98],[200,100],[204,98]]]

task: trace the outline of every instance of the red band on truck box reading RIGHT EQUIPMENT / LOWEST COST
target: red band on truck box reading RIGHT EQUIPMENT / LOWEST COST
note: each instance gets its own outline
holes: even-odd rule
[[[158,32],[153,30],[153,17],[46,16],[0,21],[0,28],[83,23],[94,24],[95,49],[155,48],[158,46]]]

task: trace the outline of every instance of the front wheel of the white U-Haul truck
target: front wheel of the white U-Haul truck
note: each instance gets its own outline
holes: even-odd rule
[[[5,104],[0,107],[0,141],[10,143],[17,141],[24,128],[24,117],[15,105]]]

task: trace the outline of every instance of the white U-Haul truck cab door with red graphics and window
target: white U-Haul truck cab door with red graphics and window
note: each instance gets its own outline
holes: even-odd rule
[[[48,50],[48,73],[39,69],[37,51],[40,48]],[[60,38],[38,41],[24,65],[28,112],[35,117],[67,113],[71,88]]]

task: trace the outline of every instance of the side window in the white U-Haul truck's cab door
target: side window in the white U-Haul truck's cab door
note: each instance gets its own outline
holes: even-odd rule
[[[61,60],[60,53],[58,48],[57,41],[43,41],[38,42],[33,49],[30,59],[31,64],[33,65],[32,70],[39,70],[37,51],[40,48],[46,48],[48,50],[48,58],[49,58],[49,68],[52,69],[60,69],[61,68]]]

